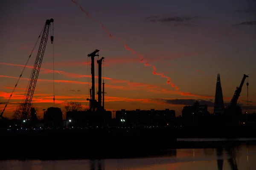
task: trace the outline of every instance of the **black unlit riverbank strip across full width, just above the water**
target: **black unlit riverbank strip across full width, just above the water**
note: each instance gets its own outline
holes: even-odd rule
[[[256,144],[256,141],[241,142],[236,140],[177,142],[177,136],[179,138],[209,138],[223,137],[226,134],[229,139],[255,136],[244,136],[242,131],[237,133],[237,129],[233,129],[235,132],[231,131],[229,134],[227,134],[228,130],[231,129],[223,129],[222,131],[212,129],[208,133],[205,129],[201,129],[201,133],[199,130],[199,128],[190,128],[187,131],[172,128],[95,128],[2,131],[0,133],[2,146],[0,160],[136,158],[172,155],[176,148],[215,148],[235,146],[241,143]]]

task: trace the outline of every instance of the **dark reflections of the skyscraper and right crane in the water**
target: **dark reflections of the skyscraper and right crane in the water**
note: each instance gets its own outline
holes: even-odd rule
[[[238,170],[237,163],[236,163],[236,150],[234,147],[230,146],[218,146],[216,148],[216,154],[217,154],[217,165],[218,170],[223,170],[223,163],[224,163],[224,150],[226,151],[229,158],[227,159],[231,170]]]

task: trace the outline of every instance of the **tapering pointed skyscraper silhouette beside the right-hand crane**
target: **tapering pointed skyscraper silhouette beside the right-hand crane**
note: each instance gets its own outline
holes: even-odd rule
[[[221,88],[221,77],[220,74],[217,76],[215,101],[214,101],[214,113],[224,113],[224,101]]]

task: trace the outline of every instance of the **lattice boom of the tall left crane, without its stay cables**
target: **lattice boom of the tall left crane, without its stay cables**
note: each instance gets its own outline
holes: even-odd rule
[[[50,27],[50,24],[53,23],[53,21],[54,21],[53,19],[46,20],[46,23],[44,26],[44,32],[43,32],[43,35],[41,38],[41,42],[40,42],[39,49],[38,49],[38,54],[35,59],[34,67],[32,70],[32,76],[31,76],[31,79],[29,82],[29,88],[26,93],[25,102],[23,103],[23,111],[22,111],[23,119],[26,119],[29,114],[29,109],[31,107],[31,102],[32,102],[34,91],[35,91],[35,85],[36,85],[36,82],[38,79],[42,60],[44,57],[44,51],[45,51],[45,48],[47,45],[47,40],[48,40],[48,35],[49,35],[49,27]],[[53,42],[53,36],[51,36],[51,41]]]

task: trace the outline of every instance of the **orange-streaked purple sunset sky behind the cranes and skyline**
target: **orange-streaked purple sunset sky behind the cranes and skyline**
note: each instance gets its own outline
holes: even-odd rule
[[[243,112],[256,111],[254,0],[8,0],[0,6],[0,110],[53,18],[56,107],[68,101],[88,107],[87,54],[99,49],[107,110],[170,108],[180,115],[198,99],[213,112],[219,73],[225,103],[249,74],[249,105],[247,80],[239,104]],[[11,117],[22,101],[38,47],[3,116]],[[52,63],[48,40],[32,100],[41,116],[53,106]]]

